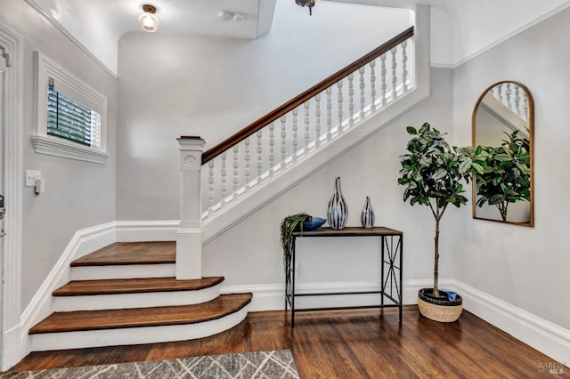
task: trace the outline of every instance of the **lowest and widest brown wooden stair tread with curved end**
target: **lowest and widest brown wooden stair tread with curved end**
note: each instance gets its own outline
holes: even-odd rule
[[[221,319],[241,310],[252,297],[253,294],[222,294],[210,302],[192,305],[54,312],[29,329],[29,334],[195,324]]]

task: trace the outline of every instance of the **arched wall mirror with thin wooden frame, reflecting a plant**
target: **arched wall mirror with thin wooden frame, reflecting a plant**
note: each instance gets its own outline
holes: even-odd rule
[[[485,170],[473,180],[473,218],[532,227],[533,98],[525,85],[499,82],[473,109],[473,148]]]

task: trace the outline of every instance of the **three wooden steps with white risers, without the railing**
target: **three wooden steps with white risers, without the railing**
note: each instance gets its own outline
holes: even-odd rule
[[[176,280],[174,242],[115,243],[71,262],[32,351],[183,341],[223,332],[252,294],[220,294],[223,277]]]

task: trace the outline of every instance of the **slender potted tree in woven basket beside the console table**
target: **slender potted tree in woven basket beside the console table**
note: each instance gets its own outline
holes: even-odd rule
[[[401,157],[402,169],[398,184],[405,186],[403,201],[410,200],[411,206],[428,206],[436,219],[434,244],[434,286],[422,288],[418,294],[419,311],[428,319],[452,322],[460,317],[462,299],[440,291],[437,284],[439,265],[439,224],[448,206],[465,205],[462,181],[468,181],[473,162],[463,155],[462,149],[451,147],[444,134],[428,123],[419,130],[408,126],[411,134],[408,153]]]

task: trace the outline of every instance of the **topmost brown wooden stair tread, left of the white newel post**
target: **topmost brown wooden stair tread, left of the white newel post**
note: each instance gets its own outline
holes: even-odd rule
[[[71,267],[175,263],[175,241],[116,242],[71,262]]]

